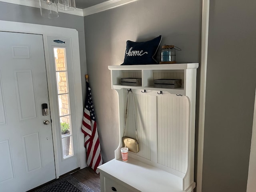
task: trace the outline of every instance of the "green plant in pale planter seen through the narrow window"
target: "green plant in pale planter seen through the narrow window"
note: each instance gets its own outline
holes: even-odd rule
[[[70,137],[66,137],[70,133],[70,125],[66,122],[60,123],[61,134],[62,134],[62,150],[63,157],[69,155]]]

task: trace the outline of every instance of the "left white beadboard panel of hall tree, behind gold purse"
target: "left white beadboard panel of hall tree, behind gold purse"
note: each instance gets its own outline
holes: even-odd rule
[[[151,158],[150,110],[149,110],[150,96],[133,93],[133,99],[134,99],[134,112],[133,112],[133,106],[132,106],[132,95],[129,94],[125,135],[132,138],[136,138],[135,122],[134,122],[134,115],[135,115],[137,135],[138,135],[139,146],[140,146],[140,151],[135,155],[150,160]]]

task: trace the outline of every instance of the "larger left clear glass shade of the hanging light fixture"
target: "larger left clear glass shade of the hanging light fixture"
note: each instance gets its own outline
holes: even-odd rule
[[[45,18],[57,18],[58,5],[57,0],[39,0],[41,16]]]

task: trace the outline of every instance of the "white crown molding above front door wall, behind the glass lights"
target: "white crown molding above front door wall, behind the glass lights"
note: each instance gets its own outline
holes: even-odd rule
[[[0,0],[0,2],[40,8],[39,0]],[[74,11],[64,11],[64,10],[58,9],[58,12],[77,15],[77,16],[84,16],[83,10],[78,8],[76,8],[76,10]]]

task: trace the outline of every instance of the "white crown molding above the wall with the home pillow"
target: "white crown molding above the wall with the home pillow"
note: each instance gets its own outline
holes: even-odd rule
[[[84,16],[88,16],[88,15],[92,15],[94,13],[98,13],[98,12],[102,12],[105,10],[109,10],[112,8],[116,8],[131,2],[134,2],[137,0],[108,0],[106,2],[102,2],[100,4],[88,7],[88,8],[84,8]]]

